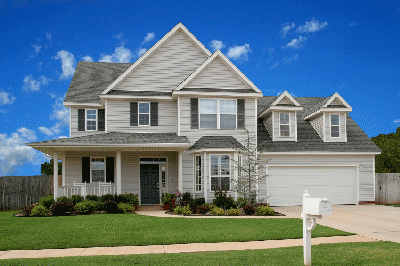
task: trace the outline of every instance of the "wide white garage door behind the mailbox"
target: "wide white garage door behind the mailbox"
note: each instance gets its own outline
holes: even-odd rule
[[[328,198],[331,204],[357,203],[357,168],[354,166],[269,166],[268,203],[271,206],[302,205],[304,190],[312,198]]]

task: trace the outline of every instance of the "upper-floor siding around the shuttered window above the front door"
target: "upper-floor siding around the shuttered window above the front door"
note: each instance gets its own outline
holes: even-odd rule
[[[158,126],[130,126],[130,102],[137,100],[107,100],[107,131],[118,132],[177,132],[176,101],[158,101]],[[152,100],[152,101],[157,101]]]

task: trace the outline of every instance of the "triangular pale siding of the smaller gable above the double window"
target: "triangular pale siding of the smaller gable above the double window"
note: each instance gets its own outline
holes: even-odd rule
[[[185,88],[249,89],[219,58],[214,59]]]

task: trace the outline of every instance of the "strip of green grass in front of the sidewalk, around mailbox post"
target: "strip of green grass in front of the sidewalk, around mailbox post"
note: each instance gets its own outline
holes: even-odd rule
[[[398,265],[392,242],[312,246],[312,265]],[[2,265],[304,265],[303,247],[202,253],[88,256],[1,260]]]

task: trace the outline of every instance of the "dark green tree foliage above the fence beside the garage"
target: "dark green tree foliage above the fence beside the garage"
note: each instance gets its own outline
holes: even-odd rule
[[[375,172],[400,173],[400,127],[396,133],[379,134],[371,140],[382,150],[375,156]]]

